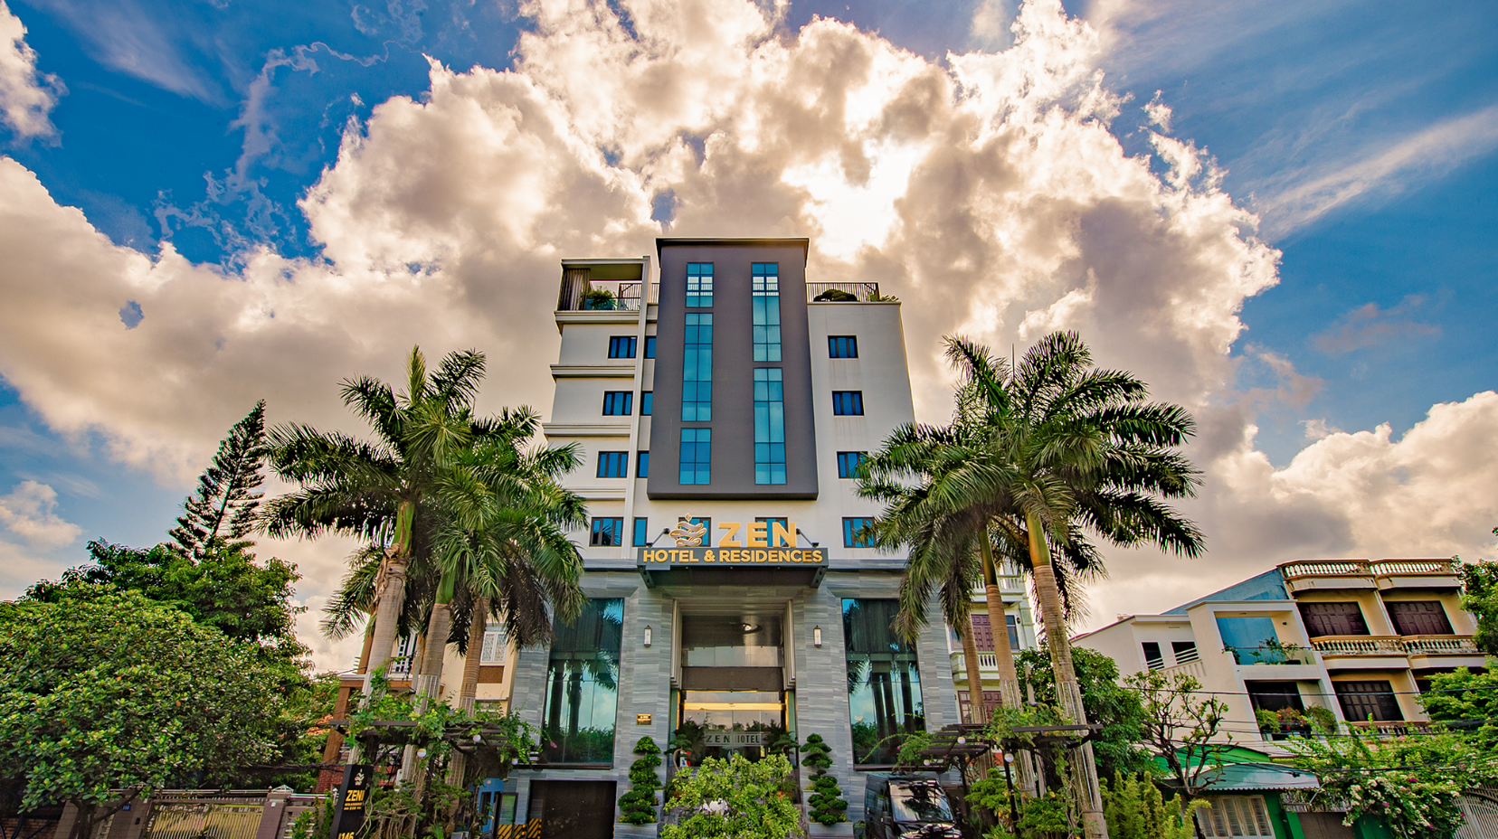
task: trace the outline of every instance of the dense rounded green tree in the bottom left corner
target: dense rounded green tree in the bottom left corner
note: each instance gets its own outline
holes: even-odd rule
[[[0,604],[0,764],[22,803],[78,806],[72,836],[150,790],[274,754],[280,673],[250,644],[135,592]]]

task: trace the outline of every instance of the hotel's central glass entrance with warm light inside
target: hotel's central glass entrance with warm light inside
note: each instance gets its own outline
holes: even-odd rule
[[[794,694],[785,689],[783,638],[783,610],[740,605],[682,614],[677,766],[734,752],[759,760],[789,742]]]

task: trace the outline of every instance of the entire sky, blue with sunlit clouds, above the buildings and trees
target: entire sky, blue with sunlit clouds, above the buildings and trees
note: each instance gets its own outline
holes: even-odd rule
[[[548,411],[559,259],[662,234],[902,297],[924,421],[947,334],[1079,330],[1185,405],[1209,553],[1110,550],[1079,629],[1492,557],[1495,42],[1480,1],[3,0],[0,596],[165,539],[258,399],[361,431],[337,382],[412,345]],[[319,667],[349,548],[261,545]]]

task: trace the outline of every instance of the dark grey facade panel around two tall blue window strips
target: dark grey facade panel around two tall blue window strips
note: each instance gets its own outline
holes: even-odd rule
[[[655,409],[650,422],[650,499],[815,499],[816,427],[806,321],[806,240],[659,240]],[[682,421],[686,264],[713,264],[713,418]],[[780,361],[753,361],[753,262],[780,271]],[[755,484],[753,369],[779,367],[785,384],[785,484]],[[680,482],[682,428],[712,428],[712,482]]]

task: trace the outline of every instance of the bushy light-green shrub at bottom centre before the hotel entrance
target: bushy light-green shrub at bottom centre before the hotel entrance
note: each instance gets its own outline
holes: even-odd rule
[[[791,802],[791,761],[770,755],[750,763],[739,752],[683,769],[671,785],[670,808],[680,824],[661,826],[661,839],[791,839],[801,836],[800,809]]]

